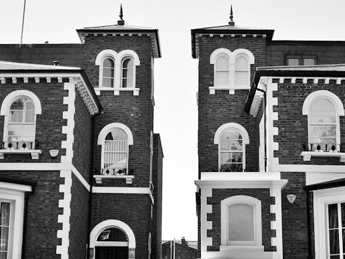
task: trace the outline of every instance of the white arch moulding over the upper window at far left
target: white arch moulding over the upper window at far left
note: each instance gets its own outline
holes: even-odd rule
[[[41,101],[39,100],[39,97],[37,97],[37,95],[30,92],[29,90],[15,90],[12,93],[9,93],[5,97],[5,99],[3,99],[3,102],[1,104],[0,115],[7,116],[11,104],[14,102],[15,99],[18,99],[21,96],[26,96],[32,99],[32,102],[34,102],[35,115],[42,113]]]

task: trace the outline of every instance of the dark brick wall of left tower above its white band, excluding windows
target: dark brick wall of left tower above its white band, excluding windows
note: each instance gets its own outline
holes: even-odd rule
[[[150,172],[150,131],[153,128],[153,107],[151,101],[151,58],[152,46],[150,37],[146,36],[91,36],[86,37],[84,44],[85,69],[93,86],[98,86],[99,66],[95,60],[101,50],[112,49],[117,52],[130,49],[139,55],[140,66],[136,67],[136,87],[140,88],[139,96],[132,92],[121,92],[115,96],[112,92],[101,92],[99,100],[103,106],[101,115],[95,117],[94,129],[94,166],[100,171],[101,146],[97,137],[101,129],[112,123],[120,122],[130,128],[134,144],[129,149],[129,171],[133,170],[135,179],[130,186],[148,187]],[[128,186],[122,180],[102,181],[102,186]]]

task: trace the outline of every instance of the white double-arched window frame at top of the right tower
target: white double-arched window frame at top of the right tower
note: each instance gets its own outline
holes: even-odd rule
[[[229,79],[228,84],[217,86],[215,84],[216,79],[216,62],[218,57],[227,57],[229,61]],[[236,84],[236,66],[235,62],[237,57],[245,57],[248,64],[248,84],[237,85]],[[233,52],[226,48],[217,48],[210,55],[210,64],[213,64],[213,86],[209,86],[210,94],[214,95],[215,90],[229,90],[229,94],[234,94],[235,89],[250,89],[250,65],[255,63],[255,57],[250,50],[245,48],[237,48]]]

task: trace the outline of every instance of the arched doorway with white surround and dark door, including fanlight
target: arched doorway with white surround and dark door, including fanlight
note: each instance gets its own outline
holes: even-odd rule
[[[135,236],[130,227],[119,220],[105,220],[90,233],[90,258],[135,259]]]

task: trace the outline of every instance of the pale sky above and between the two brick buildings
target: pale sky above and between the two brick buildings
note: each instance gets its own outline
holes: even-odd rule
[[[119,0],[26,0],[23,44],[79,43],[75,29],[117,23]],[[345,40],[344,0],[123,0],[126,24],[159,29],[155,133],[164,149],[164,240],[197,240],[197,60],[190,29],[226,25],[275,29],[273,39]],[[23,0],[0,1],[0,44],[18,44]]]

